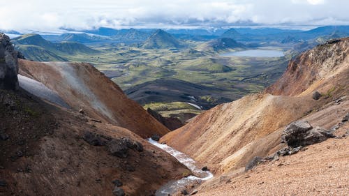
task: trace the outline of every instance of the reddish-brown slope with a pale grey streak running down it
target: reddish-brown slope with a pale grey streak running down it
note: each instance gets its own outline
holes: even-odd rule
[[[143,138],[169,131],[89,63],[20,60],[19,64],[21,75],[56,91],[75,111],[82,109],[92,118],[127,128]]]

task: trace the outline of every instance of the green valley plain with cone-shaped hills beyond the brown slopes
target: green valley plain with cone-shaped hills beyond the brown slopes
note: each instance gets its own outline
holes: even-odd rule
[[[144,108],[150,107],[164,116],[200,113],[185,103],[191,102],[188,96],[195,96],[195,103],[207,109],[262,91],[281,76],[292,56],[222,57],[219,54],[242,50],[246,45],[230,38],[207,42],[177,40],[160,30],[144,43],[129,45],[89,43],[85,46],[70,42],[57,45],[34,34],[16,38],[14,43],[27,59],[91,63],[127,90],[128,96],[134,100],[140,98],[137,101]],[[290,47],[272,49],[285,51]],[[156,83],[158,79],[164,80]],[[145,82],[154,83],[131,88]],[[161,85],[166,82],[168,84]],[[131,96],[130,89],[136,91],[133,93],[136,98]]]

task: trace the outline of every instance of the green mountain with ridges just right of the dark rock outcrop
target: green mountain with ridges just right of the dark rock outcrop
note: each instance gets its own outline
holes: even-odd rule
[[[38,34],[26,34],[13,39],[18,51],[30,60],[36,61],[66,61],[66,55],[96,54],[86,45],[75,42],[52,43]]]

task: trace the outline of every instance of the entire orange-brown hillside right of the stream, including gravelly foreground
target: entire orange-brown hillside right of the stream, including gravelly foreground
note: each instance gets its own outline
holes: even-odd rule
[[[287,187],[297,187],[297,192],[305,193],[308,185],[302,181],[307,181],[309,176],[324,190],[343,193],[342,188],[333,189],[327,185],[328,182],[324,183],[321,179],[322,175],[341,176],[341,172],[346,170],[341,163],[346,159],[343,156],[345,148],[343,145],[348,142],[346,130],[349,126],[349,123],[346,122],[349,115],[348,48],[349,38],[342,38],[331,40],[304,52],[290,61],[283,76],[269,86],[264,93],[244,96],[232,103],[218,105],[203,112],[186,126],[163,136],[160,142],[184,151],[214,171],[216,174],[214,179],[198,188],[201,195],[215,193],[220,195],[222,190],[224,193],[234,192],[235,186],[232,186],[232,183],[239,179],[242,179],[245,184],[242,186],[237,183],[237,186],[252,188],[254,192],[251,195],[264,195],[264,190],[269,191],[268,194],[295,193],[295,189],[285,190],[285,186],[281,186],[285,178],[295,179],[295,181],[290,181]],[[282,151],[286,152],[285,156],[295,152],[287,150],[292,150],[292,147],[288,143],[281,142],[284,141],[282,138],[285,138],[281,136],[292,127],[288,126],[290,123],[299,120],[309,121],[311,126],[325,130],[326,133],[334,133],[342,138],[341,142],[337,143],[338,139],[328,139],[328,142],[316,144],[318,145],[316,147],[309,146],[309,149],[312,149],[311,152],[300,151],[300,155],[297,156],[299,160],[292,156],[284,158],[280,154]],[[317,135],[318,133],[313,132],[312,134]],[[313,137],[299,136],[295,140],[312,138],[314,142],[317,141],[314,135]],[[323,140],[326,139],[325,137]],[[318,148],[335,149],[320,152],[316,150]],[[336,151],[337,148],[341,151]],[[322,157],[322,153],[331,155],[332,159]],[[258,157],[261,160],[265,159],[258,163],[256,161]],[[268,157],[275,159],[269,161]],[[311,164],[304,162],[303,158],[309,160]],[[290,163],[290,160],[294,162]],[[324,163],[318,162],[320,160],[323,160]],[[322,172],[326,164],[336,161],[339,165],[337,171],[330,171],[330,174]],[[257,170],[244,172],[245,168],[253,163],[260,165],[256,166]],[[291,164],[290,167],[294,169],[296,167],[299,169],[314,167],[316,169],[311,172],[307,170],[309,172],[306,174],[299,172],[297,175],[292,174],[295,171],[288,170],[290,173],[285,174],[283,172],[289,168],[285,167],[285,163]],[[337,165],[337,163],[334,164]],[[281,167],[281,165],[284,166]],[[299,171],[304,171],[304,169]],[[263,189],[253,188],[255,183],[260,181],[259,179],[257,181],[246,180],[250,176],[258,176],[258,173],[262,173],[262,176],[266,174],[273,176],[270,180],[267,179],[268,176],[263,179],[263,183],[259,182],[258,187]],[[264,185],[265,183],[267,185]],[[341,179],[331,179],[331,183],[341,183]],[[237,190],[236,195],[241,194],[245,194],[244,188]]]

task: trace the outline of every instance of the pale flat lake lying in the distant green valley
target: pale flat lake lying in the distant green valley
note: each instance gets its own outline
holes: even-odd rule
[[[244,56],[244,57],[281,57],[284,56],[282,51],[279,50],[244,50],[239,52],[228,52],[220,54],[219,56]]]

